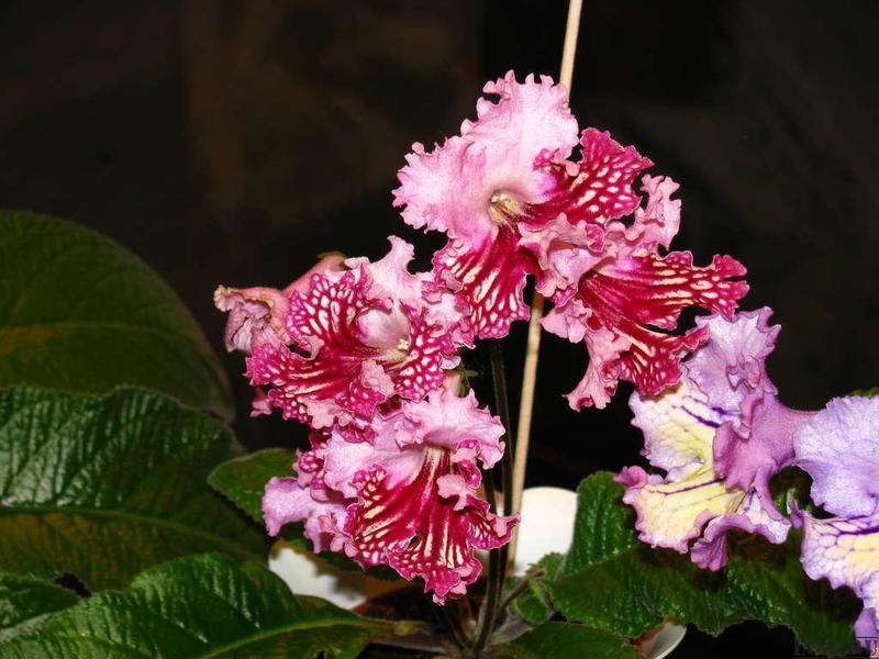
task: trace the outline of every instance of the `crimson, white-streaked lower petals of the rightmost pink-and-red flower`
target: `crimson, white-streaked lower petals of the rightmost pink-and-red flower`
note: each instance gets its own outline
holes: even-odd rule
[[[680,378],[680,359],[708,339],[704,328],[672,336],[650,328],[675,330],[681,311],[699,306],[732,317],[747,293],[745,267],[728,256],[715,256],[704,268],[692,265],[689,252],[665,257],[652,253],[614,261],[580,280],[579,297],[593,311],[593,330],[604,326],[626,336],[632,346],[602,365],[609,377],[633,382],[650,395]]]

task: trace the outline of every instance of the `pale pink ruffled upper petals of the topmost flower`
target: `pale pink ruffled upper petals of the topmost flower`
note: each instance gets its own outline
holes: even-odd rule
[[[488,82],[477,120],[465,121],[461,135],[427,153],[412,146],[399,172],[394,205],[415,228],[443,231],[450,238],[492,239],[497,224],[489,208],[496,193],[519,203],[541,201],[553,176],[535,167],[545,153],[567,157],[577,144],[577,121],[567,107],[567,90],[542,77],[519,83],[512,71]]]

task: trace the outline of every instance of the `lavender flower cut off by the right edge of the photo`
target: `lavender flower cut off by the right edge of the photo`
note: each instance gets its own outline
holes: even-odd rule
[[[864,601],[860,639],[879,637],[879,396],[832,400],[800,428],[794,465],[812,477],[812,499],[832,517],[793,506],[801,559],[812,579],[847,585]]]

